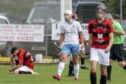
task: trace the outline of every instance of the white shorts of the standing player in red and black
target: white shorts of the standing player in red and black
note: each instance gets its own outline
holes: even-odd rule
[[[104,49],[91,48],[90,61],[97,61],[102,65],[109,65],[110,52],[105,53]]]

